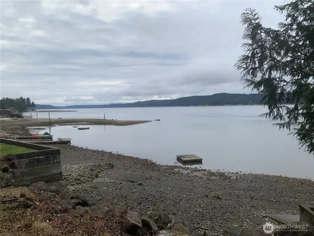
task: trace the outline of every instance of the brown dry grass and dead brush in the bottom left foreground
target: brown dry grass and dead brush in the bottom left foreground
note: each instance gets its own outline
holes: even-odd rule
[[[11,202],[0,204],[3,209],[0,214],[1,236],[128,236],[123,228],[126,210],[109,217],[79,213],[66,207],[59,198],[36,196],[29,202],[33,207],[28,209],[10,210]]]

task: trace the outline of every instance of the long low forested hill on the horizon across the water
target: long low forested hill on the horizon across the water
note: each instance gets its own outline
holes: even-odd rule
[[[148,100],[133,103],[115,103],[108,105],[72,105],[55,107],[52,105],[36,105],[36,109],[55,108],[114,108],[114,107],[176,107],[176,106],[223,106],[223,105],[252,105],[260,104],[262,94],[216,93],[206,96],[180,97],[169,100]]]

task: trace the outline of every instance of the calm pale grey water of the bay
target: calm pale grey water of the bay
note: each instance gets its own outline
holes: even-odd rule
[[[79,109],[51,113],[51,118],[104,118],[105,113],[106,119],[160,121],[89,126],[89,130],[59,126],[51,133],[54,138],[72,138],[76,146],[161,164],[174,164],[178,154],[196,154],[203,158],[205,169],[314,178],[314,156],[299,150],[287,131],[260,118],[265,111],[261,106]],[[48,114],[39,113],[38,118]]]

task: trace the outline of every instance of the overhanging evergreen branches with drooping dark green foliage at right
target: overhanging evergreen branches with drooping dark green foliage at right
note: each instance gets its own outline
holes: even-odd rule
[[[277,29],[263,27],[254,9],[241,14],[244,54],[235,68],[245,87],[263,94],[268,112],[262,117],[291,131],[300,148],[314,154],[314,1],[274,9],[285,15]]]

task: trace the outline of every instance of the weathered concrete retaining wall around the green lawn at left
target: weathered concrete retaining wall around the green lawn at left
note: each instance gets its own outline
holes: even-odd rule
[[[16,179],[26,181],[56,181],[62,179],[60,149],[44,145],[24,143],[16,140],[0,139],[1,143],[35,149],[35,151],[12,154],[16,169],[12,169]]]

